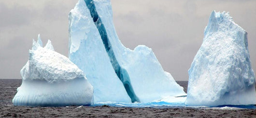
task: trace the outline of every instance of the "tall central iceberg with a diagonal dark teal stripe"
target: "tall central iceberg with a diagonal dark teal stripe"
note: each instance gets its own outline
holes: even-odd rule
[[[79,0],[69,14],[69,59],[94,87],[95,102],[152,102],[182,96],[151,48],[120,42],[110,0]]]

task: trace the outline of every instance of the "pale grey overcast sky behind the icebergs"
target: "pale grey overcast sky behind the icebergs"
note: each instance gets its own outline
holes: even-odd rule
[[[21,78],[32,38],[68,55],[68,13],[77,0],[0,0],[0,78]],[[255,0],[111,0],[114,23],[124,46],[152,48],[175,80],[188,80],[213,10],[229,11],[248,32],[252,68],[256,70]]]

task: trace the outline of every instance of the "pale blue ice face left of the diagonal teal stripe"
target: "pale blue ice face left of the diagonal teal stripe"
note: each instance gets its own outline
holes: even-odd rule
[[[79,0],[69,13],[69,59],[84,71],[92,84],[94,102],[131,103],[84,0]]]

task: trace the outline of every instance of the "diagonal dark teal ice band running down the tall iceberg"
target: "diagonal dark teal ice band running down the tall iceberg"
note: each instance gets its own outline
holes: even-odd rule
[[[115,56],[115,53],[114,53],[112,46],[109,42],[108,34],[106,32],[105,26],[102,23],[102,20],[98,15],[98,12],[96,10],[93,0],[84,0],[84,1],[86,3],[86,6],[88,7],[88,9],[90,10],[93,22],[96,25],[96,27],[100,33],[101,40],[105,46],[105,49],[108,53],[108,57],[109,57],[110,62],[116,72],[117,77],[124,84],[124,88],[125,88],[126,92],[128,93],[129,97],[131,98],[132,102],[140,102],[139,98],[136,96],[136,94],[133,91],[132,85],[130,83],[129,74],[127,73],[127,71],[125,69],[123,69],[119,65],[119,63],[116,60],[116,56]]]

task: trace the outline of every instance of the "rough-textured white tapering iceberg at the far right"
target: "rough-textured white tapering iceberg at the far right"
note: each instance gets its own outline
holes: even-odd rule
[[[215,12],[204,31],[204,41],[188,70],[189,106],[255,104],[255,76],[247,32],[228,12]]]

